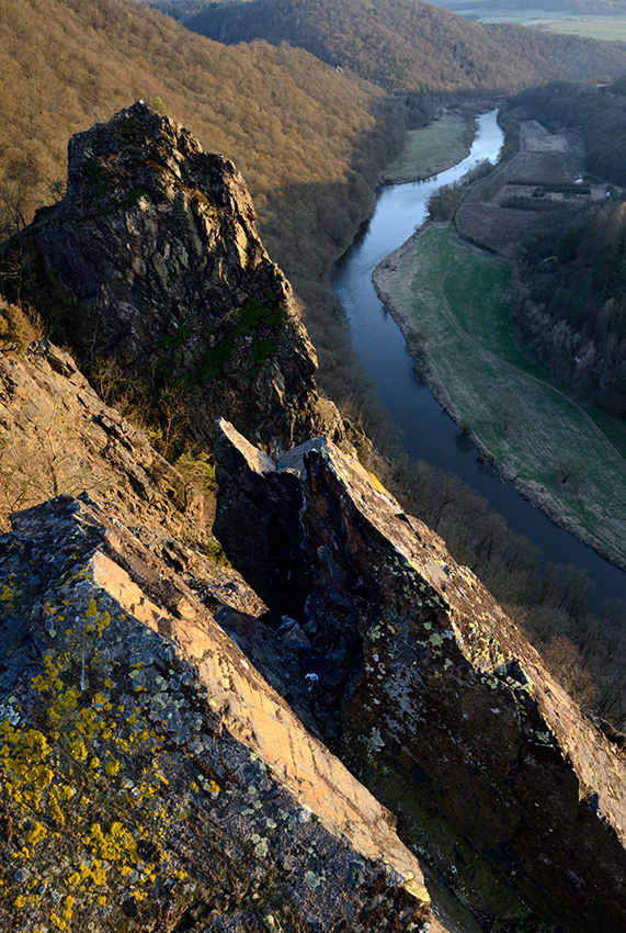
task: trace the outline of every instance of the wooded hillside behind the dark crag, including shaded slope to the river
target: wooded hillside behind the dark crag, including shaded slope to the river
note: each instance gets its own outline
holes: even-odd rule
[[[341,381],[350,351],[338,353],[333,327],[343,330],[335,318],[316,328],[316,302],[328,302],[320,283],[401,145],[403,106],[306,52],[227,47],[127,0],[3,0],[0,226],[23,225],[58,196],[72,133],[139,98],[234,159],[264,243],[307,301],[322,369],[337,360]]]

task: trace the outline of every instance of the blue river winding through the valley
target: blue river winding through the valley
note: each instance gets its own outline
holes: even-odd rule
[[[480,463],[474,447],[468,449],[452,418],[417,375],[405,338],[372,284],[376,266],[423,224],[433,191],[456,181],[481,159],[497,161],[502,131],[496,117],[492,111],[479,119],[469,156],[454,168],[428,181],[390,184],[378,191],[373,216],[338,263],[334,291],[348,314],[354,346],[400,428],[409,454],[457,473],[504,516],[513,530],[537,544],[547,561],[584,569],[595,582],[596,598],[626,599],[623,571],[554,525],[511,483],[503,483]]]

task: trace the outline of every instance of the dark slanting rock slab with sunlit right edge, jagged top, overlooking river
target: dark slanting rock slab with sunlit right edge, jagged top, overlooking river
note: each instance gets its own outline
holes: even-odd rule
[[[624,761],[475,575],[326,439],[216,452],[216,533],[319,659],[298,708],[405,840],[486,931],[626,929]]]

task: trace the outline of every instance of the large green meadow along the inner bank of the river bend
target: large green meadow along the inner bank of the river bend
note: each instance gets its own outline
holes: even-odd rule
[[[387,296],[422,338],[459,424],[564,518],[626,559],[626,432],[602,413],[591,418],[516,346],[509,266],[441,226],[396,266]]]

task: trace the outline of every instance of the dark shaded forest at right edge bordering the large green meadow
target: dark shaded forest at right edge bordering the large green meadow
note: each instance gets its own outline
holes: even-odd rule
[[[513,318],[566,385],[626,416],[626,205],[556,215],[524,240]]]

